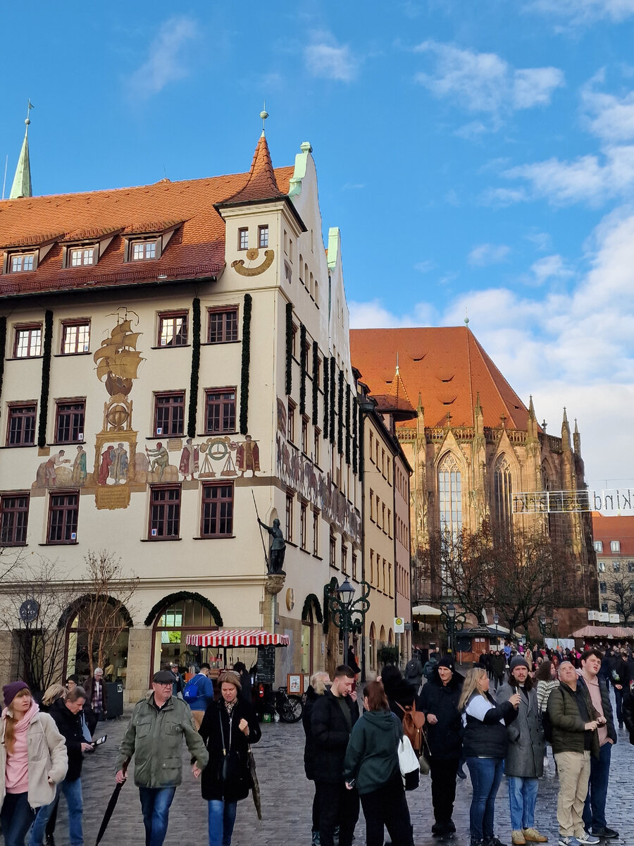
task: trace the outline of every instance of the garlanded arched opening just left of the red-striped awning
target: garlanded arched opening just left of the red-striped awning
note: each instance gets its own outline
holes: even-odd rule
[[[180,591],[157,602],[145,618],[145,625],[152,625],[151,672],[156,673],[161,666],[172,661],[189,670],[194,662],[199,661],[200,651],[187,645],[187,635],[206,634],[218,629],[222,618],[206,596]]]

